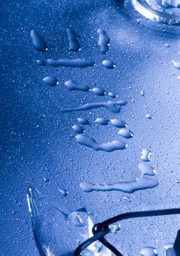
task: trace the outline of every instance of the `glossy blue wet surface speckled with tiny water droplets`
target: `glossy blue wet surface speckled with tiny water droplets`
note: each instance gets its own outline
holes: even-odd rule
[[[179,36],[143,26],[141,16],[130,18],[118,7],[120,3],[111,0],[1,1],[1,256],[39,255],[26,203],[29,185],[58,208],[62,202],[72,212],[86,207],[94,223],[126,211],[179,207],[180,73],[178,64],[172,62],[180,61]],[[77,52],[69,49],[69,28],[79,36],[81,50]],[[33,45],[32,29],[45,40],[48,49],[44,52],[36,50],[35,42]],[[106,53],[98,45],[98,29],[110,38]],[[61,65],[52,67],[48,59],[68,61],[51,63]],[[72,63],[69,59],[89,62]],[[36,60],[47,64],[41,67]],[[103,67],[104,60],[112,60],[116,67]],[[57,78],[58,86],[44,84],[46,77]],[[69,80],[91,89],[101,87],[118,97],[69,91],[64,86]],[[114,108],[107,103],[121,99],[127,105]],[[101,102],[109,108],[96,108]],[[79,106],[85,110],[62,112]],[[96,118],[110,120],[109,125],[94,123]],[[126,125],[111,121],[114,119],[124,120],[134,137],[118,135]],[[87,121],[90,124],[84,125]],[[83,146],[84,133],[77,135],[72,129],[77,124],[99,144],[122,139],[128,147],[107,152]],[[97,147],[94,140],[86,141]],[[152,176],[148,167],[151,176],[136,181],[144,148],[153,153],[146,164],[157,173]],[[144,157],[149,159],[147,153]],[[154,184],[151,189],[144,189],[144,178]],[[101,191],[84,192],[79,185],[87,183]],[[118,183],[119,190],[125,184],[131,193],[114,190],[115,185],[103,187]],[[133,192],[139,184],[142,190]],[[111,191],[102,191],[106,188]],[[68,195],[64,197],[62,191]],[[163,256],[163,246],[176,237],[179,220],[134,219],[122,222],[120,230],[107,238],[125,255],[141,255],[141,250],[150,246]],[[58,232],[63,230],[67,240],[64,217],[63,221]]]

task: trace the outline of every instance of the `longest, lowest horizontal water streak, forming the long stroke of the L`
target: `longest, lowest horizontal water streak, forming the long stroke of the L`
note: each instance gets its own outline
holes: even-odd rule
[[[157,187],[158,184],[157,179],[140,176],[139,178],[136,178],[136,181],[118,182],[114,184],[92,184],[90,182],[82,182],[80,184],[80,188],[84,192],[117,190],[126,193],[133,193],[137,190]]]

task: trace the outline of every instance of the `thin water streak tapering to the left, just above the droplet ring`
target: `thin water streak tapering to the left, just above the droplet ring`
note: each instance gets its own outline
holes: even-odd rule
[[[87,103],[85,105],[82,105],[78,108],[67,108],[64,110],[61,110],[61,112],[66,113],[66,112],[73,112],[73,111],[79,111],[79,110],[90,110],[93,108],[107,108],[109,109],[112,113],[120,113],[121,106],[126,105],[127,102],[125,100],[119,100],[117,102],[97,102],[97,103]]]

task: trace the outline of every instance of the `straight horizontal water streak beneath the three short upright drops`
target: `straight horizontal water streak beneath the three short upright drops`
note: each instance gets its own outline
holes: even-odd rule
[[[87,59],[47,59],[47,64],[52,67],[90,67],[95,63]]]

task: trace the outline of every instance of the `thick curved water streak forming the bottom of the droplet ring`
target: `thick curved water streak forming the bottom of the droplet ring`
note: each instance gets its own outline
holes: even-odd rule
[[[123,150],[128,146],[120,140],[113,140],[108,143],[97,143],[95,139],[87,135],[77,135],[76,139],[78,143],[93,148],[95,151],[102,150],[106,152],[112,152],[115,150]]]

